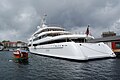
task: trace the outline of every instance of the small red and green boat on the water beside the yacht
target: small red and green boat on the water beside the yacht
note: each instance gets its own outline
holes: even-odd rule
[[[13,52],[13,55],[16,62],[28,61],[28,51],[17,49]]]

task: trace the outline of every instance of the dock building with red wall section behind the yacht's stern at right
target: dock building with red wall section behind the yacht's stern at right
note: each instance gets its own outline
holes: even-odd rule
[[[96,38],[93,40],[89,40],[88,42],[104,42],[107,44],[117,56],[120,56],[120,36],[116,36],[114,32],[103,32],[101,38]]]

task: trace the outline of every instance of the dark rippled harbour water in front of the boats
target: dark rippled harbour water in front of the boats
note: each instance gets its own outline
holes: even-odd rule
[[[120,80],[120,59],[75,62],[29,54],[15,63],[12,52],[0,51],[0,80]]]

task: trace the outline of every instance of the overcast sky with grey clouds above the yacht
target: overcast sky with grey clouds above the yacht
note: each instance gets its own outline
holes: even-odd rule
[[[90,24],[94,37],[104,31],[120,35],[120,0],[0,0],[0,41],[27,39],[40,18],[72,32],[85,32]]]

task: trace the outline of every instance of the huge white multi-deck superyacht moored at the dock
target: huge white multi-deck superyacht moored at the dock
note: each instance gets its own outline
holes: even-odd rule
[[[72,34],[61,27],[48,26],[45,17],[41,26],[29,39],[32,53],[72,60],[89,60],[115,57],[114,52],[104,43],[88,43],[93,36]]]

